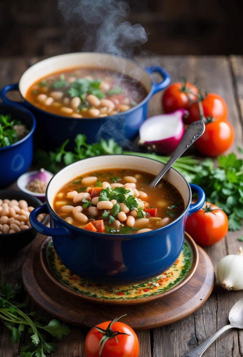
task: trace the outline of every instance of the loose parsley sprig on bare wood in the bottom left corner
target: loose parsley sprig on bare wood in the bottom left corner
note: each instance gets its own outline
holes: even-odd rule
[[[14,301],[15,295],[20,291],[16,284],[13,288],[11,284],[0,284],[0,318],[4,324],[11,330],[12,336],[10,342],[18,343],[25,328],[31,333],[32,344],[20,348],[19,356],[22,357],[45,357],[45,353],[56,352],[58,346],[56,343],[46,342],[45,335],[40,331],[46,331],[50,335],[61,340],[63,335],[67,335],[70,330],[68,326],[60,323],[58,320],[51,320],[48,325],[43,325],[45,318],[32,320],[34,312],[24,313],[21,308],[25,304]]]

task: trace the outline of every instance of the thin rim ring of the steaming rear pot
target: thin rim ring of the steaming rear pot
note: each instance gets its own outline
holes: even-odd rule
[[[127,62],[130,62],[132,64],[134,64],[135,66],[137,66],[141,71],[143,71],[143,74],[146,75],[149,79],[149,82],[150,82],[150,89],[149,89],[149,92],[148,94],[146,95],[146,97],[141,101],[139,102],[138,104],[136,104],[134,107],[126,110],[125,112],[119,112],[117,114],[114,114],[114,116],[122,116],[122,115],[126,115],[126,113],[130,113],[130,112],[133,112],[134,110],[140,108],[141,106],[143,106],[146,102],[148,102],[148,100],[150,99],[151,95],[152,95],[152,80],[151,80],[151,77],[149,75],[148,72],[146,72],[146,70],[143,68],[143,67],[140,67],[134,60],[131,60],[131,59],[127,59],[125,57],[122,57],[122,56],[117,56],[117,55],[110,55],[110,54],[106,54],[106,53],[99,53],[99,52],[71,52],[71,53],[67,53],[67,54],[61,54],[61,55],[57,55],[57,56],[51,56],[51,57],[47,57],[43,60],[40,60],[38,62],[36,62],[35,64],[33,64],[32,66],[30,66],[29,68],[27,68],[23,73],[22,75],[20,76],[20,79],[19,79],[19,82],[18,82],[18,86],[21,82],[21,79],[22,77],[25,75],[26,71],[28,70],[31,70],[34,66],[37,66],[40,62],[44,62],[44,61],[48,61],[50,59],[54,59],[54,58],[61,58],[61,57],[64,57],[64,56],[73,56],[73,55],[82,55],[82,54],[86,54],[86,55],[97,55],[97,56],[110,56],[110,57],[113,57],[113,58],[118,58],[118,59],[123,59]],[[74,68],[74,67],[66,67],[66,69],[71,69],[71,68]],[[102,120],[105,120],[107,119],[107,117],[103,117],[103,118],[75,118],[75,117],[68,117],[68,116],[65,116],[65,115],[60,115],[60,114],[54,114],[54,113],[51,113],[51,112],[48,112],[48,110],[43,110],[41,108],[38,108],[37,106],[33,105],[30,101],[28,101],[24,95],[22,94],[21,90],[20,90],[20,87],[19,87],[19,92],[20,92],[20,95],[21,97],[28,103],[28,105],[30,105],[31,107],[33,107],[34,109],[36,110],[39,110],[41,112],[43,112],[44,114],[48,114],[52,117],[58,117],[58,119],[61,119],[61,120],[73,120],[73,121],[82,121],[82,120],[89,120],[89,121],[95,121],[95,120],[98,120],[100,121],[100,119]]]

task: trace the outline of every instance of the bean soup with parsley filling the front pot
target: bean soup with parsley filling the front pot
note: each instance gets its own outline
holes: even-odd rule
[[[54,211],[93,232],[142,233],[167,225],[184,210],[180,192],[154,175],[136,170],[104,170],[69,181],[56,193]]]

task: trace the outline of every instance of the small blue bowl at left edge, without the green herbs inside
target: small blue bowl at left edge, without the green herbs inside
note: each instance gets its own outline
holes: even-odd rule
[[[11,114],[13,119],[20,120],[29,129],[29,133],[15,144],[0,147],[0,188],[4,188],[17,180],[31,165],[36,121],[29,110],[18,105],[0,103],[0,114]]]

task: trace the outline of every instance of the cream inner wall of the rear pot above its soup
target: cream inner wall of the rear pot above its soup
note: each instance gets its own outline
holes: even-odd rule
[[[83,52],[50,57],[31,66],[20,78],[20,93],[23,97],[25,97],[29,87],[42,77],[50,75],[53,72],[72,69],[75,67],[99,67],[101,69],[105,68],[117,71],[135,79],[136,81],[140,81],[147,92],[151,89],[151,80],[148,73],[134,62],[126,60],[122,57],[107,54]]]

